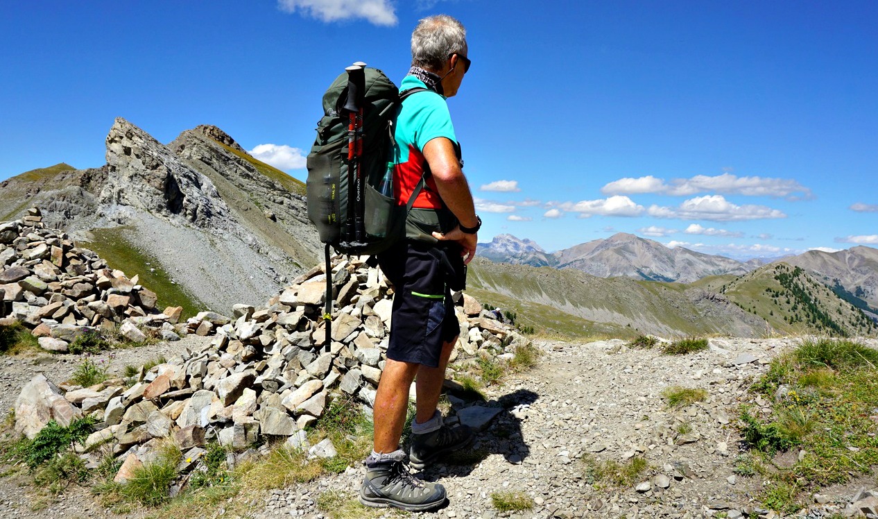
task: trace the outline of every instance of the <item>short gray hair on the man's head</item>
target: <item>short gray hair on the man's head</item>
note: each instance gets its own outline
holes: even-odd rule
[[[438,72],[450,54],[466,50],[464,25],[447,14],[422,18],[412,32],[412,65]]]

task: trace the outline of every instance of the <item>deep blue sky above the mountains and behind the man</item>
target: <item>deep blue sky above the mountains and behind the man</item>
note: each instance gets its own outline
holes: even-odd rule
[[[102,165],[119,116],[162,142],[219,126],[304,180],[323,90],[361,60],[399,82],[411,30],[439,12],[468,31],[449,104],[480,241],[878,246],[871,0],[10,3],[0,180]]]

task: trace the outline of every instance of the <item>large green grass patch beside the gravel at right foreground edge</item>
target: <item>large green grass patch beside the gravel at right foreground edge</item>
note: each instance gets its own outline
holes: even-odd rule
[[[772,361],[752,391],[774,401],[770,414],[742,407],[739,427],[752,457],[773,464],[794,447],[804,454],[768,473],[760,499],[788,514],[822,487],[878,466],[878,352],[848,340],[802,342]],[[787,455],[789,456],[789,455]]]

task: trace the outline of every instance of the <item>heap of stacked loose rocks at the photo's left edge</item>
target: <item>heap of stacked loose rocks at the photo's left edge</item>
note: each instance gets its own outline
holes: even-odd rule
[[[32,328],[46,350],[67,351],[90,328],[119,329],[143,342],[141,328],[165,340],[179,339],[174,325],[183,308],[156,309],[155,292],[127,278],[68,235],[43,226],[33,207],[22,220],[0,222],[0,322]]]

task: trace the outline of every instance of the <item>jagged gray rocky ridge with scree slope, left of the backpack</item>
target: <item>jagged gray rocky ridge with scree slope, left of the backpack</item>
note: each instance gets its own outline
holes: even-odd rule
[[[40,206],[77,241],[123,227],[127,247],[155,256],[185,292],[224,313],[262,304],[320,256],[301,183],[219,128],[198,126],[165,146],[118,118],[106,146],[103,168],[59,164],[0,183],[2,218]]]

